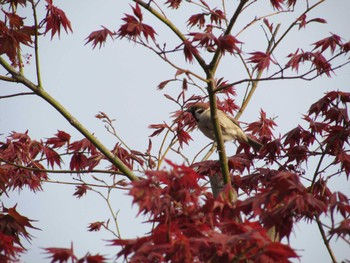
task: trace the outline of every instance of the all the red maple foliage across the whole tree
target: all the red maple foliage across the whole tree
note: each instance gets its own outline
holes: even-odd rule
[[[26,0],[2,2],[11,4],[12,9],[9,10],[27,4]],[[207,61],[207,57],[201,57],[199,50],[218,50],[221,54],[239,53],[242,60],[254,64],[259,71],[269,69],[271,62],[277,64],[272,59],[272,54],[242,52],[242,43],[222,26],[229,22],[225,13],[216,8],[211,9],[203,0],[196,3],[202,13],[191,15],[187,21],[188,27],[197,26],[199,32],[189,32],[189,39],[181,38],[182,43],[174,49],[166,50],[166,45],[162,49],[156,42],[155,30],[144,23],[141,8],[137,4],[138,1],[135,2],[136,5],[132,7],[133,13],[125,14],[122,18],[123,24],[117,32],[102,27],[87,37],[86,44],[91,43],[93,48],[97,45],[101,47],[108,37],[114,38],[117,35],[119,38],[126,37],[147,46],[146,42],[150,38],[153,42],[148,47],[152,50],[159,49],[157,54],[163,59],[168,59],[167,54],[183,50],[186,61],[193,62],[199,58]],[[165,4],[177,9],[182,2],[167,0]],[[51,31],[51,39],[56,34],[60,36],[62,28],[66,32],[72,31],[66,14],[54,6],[52,0],[46,0],[46,3],[47,12],[38,28],[25,25],[25,18],[16,12],[3,11],[5,18],[4,21],[0,21],[0,54],[6,54],[13,65],[18,66],[21,61],[18,57],[21,45],[31,46],[33,36],[41,34],[38,31],[43,29],[45,34]],[[270,3],[274,9],[286,11],[295,6],[296,0],[270,0]],[[155,3],[150,1],[148,4],[151,7]],[[307,20],[306,13],[297,19],[299,29],[311,22],[326,23],[322,18]],[[257,19],[254,22],[258,21]],[[273,24],[267,19],[264,19],[263,23],[270,33],[274,32]],[[343,43],[342,38],[335,34],[316,41],[313,45],[312,51],[297,49],[295,53],[290,54],[286,67],[298,72],[301,64],[307,62],[311,64],[310,72],[330,77],[333,71],[330,61],[335,63],[334,58],[350,51],[350,42]],[[327,53],[332,57],[327,57]],[[246,54],[250,54],[250,57],[247,58]],[[209,73],[212,66],[217,65],[208,64],[203,69]],[[282,77],[283,70],[281,69]],[[171,133],[172,140],[179,143],[180,154],[181,148],[190,143],[189,130],[195,127],[193,118],[189,113],[185,113],[184,109],[194,102],[207,99],[195,95],[189,99],[185,98],[190,85],[199,87],[191,79],[195,74],[187,69],[177,69],[175,78],[160,83],[159,89],[164,89],[170,81],[180,80],[178,77],[181,74],[184,77],[181,80],[179,95],[164,95],[180,108],[172,115],[172,124],[150,126],[154,129],[150,137],[163,131]],[[238,109],[233,85],[219,79],[216,86],[220,89],[216,94],[218,108],[233,114]],[[142,180],[132,183],[129,194],[133,197],[133,203],[138,205],[139,214],[146,215],[148,222],[154,224],[154,228],[144,237],[113,240],[112,245],[121,246],[118,257],[130,258],[130,262],[289,262],[290,258],[297,257],[296,252],[289,245],[272,240],[268,230],[275,228],[279,239],[289,238],[295,222],[311,221],[326,213],[332,224],[329,229],[330,238],[336,235],[348,239],[349,198],[344,193],[332,192],[327,183],[335,175],[345,175],[347,179],[350,175],[349,102],[350,93],[329,92],[312,104],[303,117],[308,127],[303,128],[299,125],[284,136],[277,137],[273,133],[276,123],[267,118],[266,113],[261,110],[260,119],[248,124],[246,131],[252,133],[248,136],[257,137],[264,146],[258,153],[250,152],[250,148],[245,144],[237,147],[236,154],[228,157],[233,185],[226,186],[217,198],[208,192],[203,181],[210,181],[214,175],[221,176],[218,161],[197,162],[191,167],[169,162],[170,171],[152,170],[156,157],[151,155],[151,141],[146,153],[126,149],[117,143],[111,152],[128,168],[149,168]],[[106,123],[112,122],[104,113],[97,117]],[[70,134],[58,131],[51,138],[36,141],[31,139],[27,132],[13,132],[4,142],[0,142],[1,193],[21,190],[25,186],[32,191],[41,190],[42,182],[48,179],[48,169],[61,167],[63,155],[68,160],[70,170],[75,174],[75,171],[92,172],[101,160],[108,161],[87,138],[71,142]],[[319,158],[320,165],[313,173],[306,173],[304,169],[310,157]],[[330,160],[326,166],[321,165],[324,157]],[[111,174],[120,173],[115,166],[109,168]],[[333,169],[332,173],[327,173],[328,169]],[[125,182],[114,181],[115,185],[125,186]],[[239,194],[244,193],[239,195],[239,200],[234,203],[227,198],[232,187]],[[91,189],[85,184],[78,185],[73,195],[80,198]],[[336,216],[341,217],[339,222],[335,222]],[[9,209],[3,207],[0,213],[1,262],[16,260],[19,253],[24,251],[20,238],[30,240],[28,229],[34,229],[31,222],[32,220],[16,211],[16,206]],[[108,221],[90,223],[88,231],[99,231],[101,227],[108,228]],[[86,254],[78,259],[74,255],[73,247],[52,247],[45,250],[52,262],[106,261],[106,258],[99,254]]]

